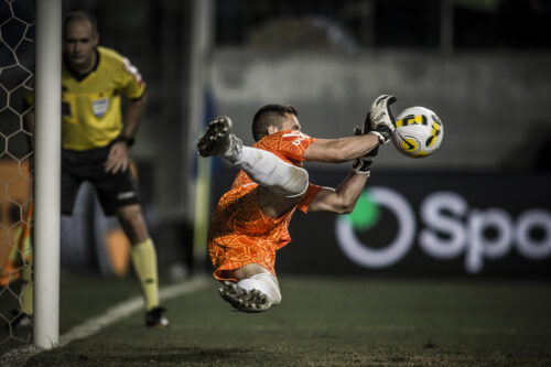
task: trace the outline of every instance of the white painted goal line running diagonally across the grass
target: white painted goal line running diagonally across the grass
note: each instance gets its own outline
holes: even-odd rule
[[[196,277],[182,283],[161,288],[161,290],[159,291],[159,296],[165,301],[179,295],[193,293],[207,284],[208,281],[206,277]],[[91,336],[99,332],[101,328],[109,326],[110,324],[114,324],[142,309],[142,295],[132,296],[131,299],[122,301],[108,309],[102,314],[93,319],[88,319],[84,323],[74,326],[73,328],[61,335],[58,347],[65,346],[71,342]],[[11,349],[0,357],[0,366],[22,366],[26,363],[26,360],[29,360],[29,358],[43,350],[44,349],[37,348],[34,345],[25,345],[15,349]]]

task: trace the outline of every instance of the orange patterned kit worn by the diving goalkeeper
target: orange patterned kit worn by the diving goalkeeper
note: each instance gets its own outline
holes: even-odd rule
[[[302,166],[302,154],[314,141],[315,138],[299,131],[285,130],[262,138],[253,147]],[[276,274],[276,251],[291,241],[288,227],[294,211],[306,213],[321,188],[310,183],[294,207],[279,218],[271,218],[258,206],[257,187],[258,184],[240,171],[218,202],[208,230],[208,252],[218,280],[235,280],[226,270],[248,263],[259,263]]]

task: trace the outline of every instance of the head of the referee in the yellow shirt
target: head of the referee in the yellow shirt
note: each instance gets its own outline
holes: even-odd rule
[[[85,11],[75,11],[65,17],[63,44],[66,60],[72,66],[89,65],[94,60],[98,42],[98,26],[91,14]]]

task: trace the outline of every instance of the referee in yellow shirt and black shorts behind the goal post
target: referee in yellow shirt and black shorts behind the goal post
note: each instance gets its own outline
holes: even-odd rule
[[[63,32],[62,214],[73,213],[80,184],[90,182],[104,213],[117,216],[132,245],[145,325],[168,326],[159,301],[155,246],[129,168],[129,149],[145,107],[145,83],[128,58],[98,45],[96,20],[89,13],[69,13]],[[128,99],[125,123],[121,95]],[[26,117],[33,129],[34,115]]]

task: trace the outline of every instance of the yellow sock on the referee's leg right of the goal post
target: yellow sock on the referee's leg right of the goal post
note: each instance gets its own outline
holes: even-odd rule
[[[132,245],[132,265],[145,299],[145,310],[159,306],[159,280],[156,274],[156,252],[153,240]]]

